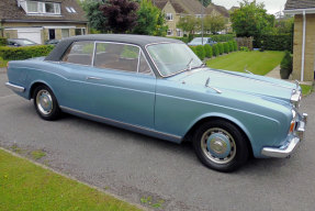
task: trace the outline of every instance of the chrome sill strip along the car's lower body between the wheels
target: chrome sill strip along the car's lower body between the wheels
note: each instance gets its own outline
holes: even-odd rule
[[[125,126],[139,129],[139,130],[147,131],[147,132],[150,132],[150,133],[156,133],[156,134],[160,134],[160,135],[164,135],[164,136],[169,136],[169,137],[172,137],[172,138],[178,140],[178,141],[180,141],[182,138],[181,136],[178,136],[178,135],[172,135],[172,134],[169,134],[169,133],[155,131],[155,130],[151,130],[151,129],[148,129],[148,127],[144,127],[144,126],[135,125],[135,124],[130,124],[130,123],[125,123],[125,122],[120,122],[120,121],[116,121],[116,120],[112,120],[112,119],[109,119],[109,118],[103,118],[103,116],[100,116],[100,115],[90,114],[90,113],[87,113],[87,112],[83,112],[83,111],[78,111],[76,109],[70,109],[70,108],[63,107],[63,106],[59,106],[59,107],[60,107],[61,110],[75,112],[75,113],[78,113],[78,114],[88,115],[88,116],[100,119],[102,121],[106,121],[106,122],[110,122],[110,123],[122,124],[122,125],[125,125]]]

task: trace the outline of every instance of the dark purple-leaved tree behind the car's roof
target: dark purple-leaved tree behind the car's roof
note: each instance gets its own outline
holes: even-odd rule
[[[138,3],[128,0],[109,0],[100,7],[110,31],[126,33],[136,25]]]

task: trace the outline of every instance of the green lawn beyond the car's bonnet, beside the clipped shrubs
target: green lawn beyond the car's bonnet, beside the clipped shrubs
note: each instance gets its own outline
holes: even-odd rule
[[[280,65],[283,56],[283,52],[235,52],[212,58],[206,62],[206,65],[211,68],[233,71],[244,71],[247,66],[247,70],[263,76]]]

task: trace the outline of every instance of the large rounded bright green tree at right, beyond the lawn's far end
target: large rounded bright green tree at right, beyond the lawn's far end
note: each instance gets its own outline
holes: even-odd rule
[[[230,13],[232,26],[237,36],[257,36],[274,25],[274,16],[267,14],[263,3],[244,0],[239,9]]]

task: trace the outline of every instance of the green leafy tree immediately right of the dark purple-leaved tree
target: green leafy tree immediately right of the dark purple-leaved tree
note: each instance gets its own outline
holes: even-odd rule
[[[136,22],[137,24],[133,31],[135,34],[165,36],[167,33],[165,15],[150,0],[140,2]]]

